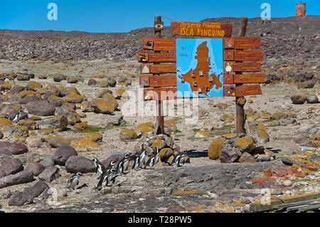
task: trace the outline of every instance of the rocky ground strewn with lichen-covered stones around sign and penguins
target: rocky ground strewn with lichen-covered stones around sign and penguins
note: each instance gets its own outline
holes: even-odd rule
[[[291,29],[292,20],[274,23]],[[250,19],[247,36],[260,36],[253,33],[257,23]],[[263,95],[247,97],[248,134],[240,138],[233,97],[165,102],[175,110],[165,117],[170,137],[151,138],[154,102],[138,95],[136,59],[151,28],[124,34],[0,31],[0,210],[257,212],[266,195],[319,198],[319,29],[291,29],[292,36],[265,31]],[[193,107],[196,117],[183,116],[182,107]],[[18,110],[26,118],[14,122]],[[129,169],[97,191],[90,160],[119,159],[127,150],[139,152],[142,142],[162,146],[162,162]],[[183,149],[186,164],[169,166]],[[84,175],[78,189],[68,191],[64,186],[75,171]]]

